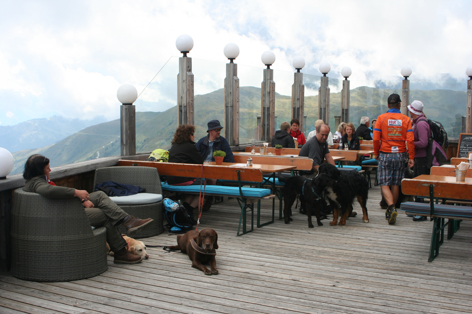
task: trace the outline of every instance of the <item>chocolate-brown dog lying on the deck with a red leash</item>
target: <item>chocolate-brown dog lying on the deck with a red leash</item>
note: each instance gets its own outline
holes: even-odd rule
[[[218,233],[215,230],[203,228],[198,232],[187,231],[183,235],[177,235],[177,245],[168,248],[186,253],[192,261],[192,267],[200,269],[205,275],[219,274],[215,259],[215,250],[218,250]],[[210,269],[203,263],[209,263]]]

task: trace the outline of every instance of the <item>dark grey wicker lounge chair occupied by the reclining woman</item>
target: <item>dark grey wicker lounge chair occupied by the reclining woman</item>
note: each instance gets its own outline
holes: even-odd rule
[[[16,189],[11,274],[38,282],[90,278],[107,270],[106,229],[92,230],[84,206]]]

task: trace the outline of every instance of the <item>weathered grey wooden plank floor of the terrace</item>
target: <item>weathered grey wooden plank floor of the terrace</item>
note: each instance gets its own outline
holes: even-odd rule
[[[379,187],[345,226],[294,222],[236,237],[239,208],[225,200],[203,214],[217,230],[219,275],[191,268],[186,255],[147,250],[137,265],[113,264],[76,282],[26,282],[0,274],[0,313],[472,313],[472,224],[463,222],[427,262],[431,222],[403,213],[388,225]],[[354,207],[358,213],[358,205]],[[265,210],[268,212],[268,210]],[[294,209],[294,213],[296,210]],[[167,232],[144,239],[173,245]]]

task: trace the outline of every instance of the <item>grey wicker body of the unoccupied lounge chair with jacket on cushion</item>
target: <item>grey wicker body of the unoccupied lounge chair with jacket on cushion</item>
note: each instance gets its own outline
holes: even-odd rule
[[[104,181],[114,181],[122,184],[139,185],[146,189],[146,193],[162,194],[160,178],[157,169],[150,167],[105,167],[95,170],[93,187]],[[162,225],[162,201],[144,205],[119,205],[126,213],[141,219],[152,218],[152,226],[144,231],[138,231],[132,237],[147,238],[158,235],[164,231]],[[121,233],[126,234],[126,228],[118,225]]]

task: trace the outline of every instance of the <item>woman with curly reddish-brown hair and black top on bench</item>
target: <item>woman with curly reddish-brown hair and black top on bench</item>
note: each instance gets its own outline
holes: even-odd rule
[[[169,162],[203,164],[203,157],[195,147],[195,126],[182,124],[177,127],[169,149]],[[168,176],[169,185],[200,185],[200,178]],[[182,205],[190,213],[198,206],[198,195],[187,194]]]

